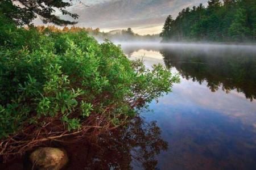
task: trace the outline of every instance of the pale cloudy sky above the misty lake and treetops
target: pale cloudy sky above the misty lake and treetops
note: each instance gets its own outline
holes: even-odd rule
[[[160,33],[168,15],[176,18],[186,7],[208,0],[74,0],[68,11],[79,14],[79,27],[108,32],[131,27],[141,35]],[[84,4],[88,5],[86,7]],[[68,18],[67,18],[68,19]]]

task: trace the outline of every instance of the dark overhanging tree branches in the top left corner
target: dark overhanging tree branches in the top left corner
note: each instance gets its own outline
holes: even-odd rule
[[[72,0],[2,0],[0,2],[0,13],[9,19],[13,19],[17,25],[30,24],[31,21],[38,16],[44,23],[67,25],[75,24],[76,22],[61,19],[59,16],[56,16],[53,13],[57,9],[61,12],[61,14],[77,19],[77,14],[72,14],[66,10],[66,8],[71,5]]]

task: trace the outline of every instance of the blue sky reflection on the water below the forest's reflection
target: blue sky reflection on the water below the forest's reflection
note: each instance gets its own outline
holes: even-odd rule
[[[225,98],[210,100],[205,107],[185,92],[174,93],[150,105],[154,114],[144,114],[147,121],[158,120],[163,138],[169,143],[168,151],[158,157],[159,169],[256,168],[256,133],[250,124],[251,120],[255,123],[255,107],[246,108],[250,105],[243,103],[245,107],[239,109],[242,104],[236,103],[238,106],[232,108],[236,104],[226,101],[227,109],[222,110],[224,107],[218,108],[218,102]],[[237,112],[242,115],[232,115]],[[246,117],[249,122],[243,120]]]

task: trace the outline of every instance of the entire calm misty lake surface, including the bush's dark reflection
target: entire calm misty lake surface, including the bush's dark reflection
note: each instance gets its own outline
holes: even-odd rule
[[[122,44],[181,82],[127,128],[71,145],[68,169],[256,169],[256,46]],[[89,145],[89,146],[88,146]]]

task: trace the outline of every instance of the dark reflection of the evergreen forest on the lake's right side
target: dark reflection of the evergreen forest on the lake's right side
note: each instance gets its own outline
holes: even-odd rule
[[[200,84],[204,81],[212,92],[236,89],[251,101],[256,99],[256,56],[241,50],[160,50],[167,67],[176,67],[183,78]]]

